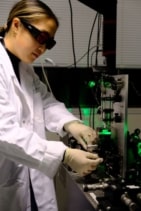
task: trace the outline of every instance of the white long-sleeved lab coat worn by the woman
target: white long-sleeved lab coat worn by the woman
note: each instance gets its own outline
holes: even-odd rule
[[[77,118],[23,62],[20,79],[0,42],[0,210],[31,210],[31,178],[39,211],[57,211],[53,177],[66,146],[46,141],[45,127],[63,136],[64,123]]]

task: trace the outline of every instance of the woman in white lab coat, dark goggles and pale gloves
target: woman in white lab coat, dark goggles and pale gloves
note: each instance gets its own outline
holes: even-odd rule
[[[61,162],[80,175],[101,162],[96,154],[46,141],[45,128],[60,136],[72,134],[85,149],[96,137],[47,91],[30,65],[55,45],[58,25],[43,2],[21,0],[0,28],[2,211],[57,211],[53,177]]]

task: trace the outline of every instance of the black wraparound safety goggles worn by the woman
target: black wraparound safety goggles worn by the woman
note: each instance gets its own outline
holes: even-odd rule
[[[20,18],[20,21],[38,43],[40,43],[41,45],[45,44],[46,48],[49,50],[55,46],[56,41],[53,37],[50,37],[48,32],[40,31],[35,26],[31,25],[22,18]]]

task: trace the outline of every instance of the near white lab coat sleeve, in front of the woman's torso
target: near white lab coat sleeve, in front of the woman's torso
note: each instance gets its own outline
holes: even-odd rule
[[[67,148],[59,141],[45,141],[35,132],[22,127],[8,94],[9,82],[0,65],[0,154],[54,177]]]

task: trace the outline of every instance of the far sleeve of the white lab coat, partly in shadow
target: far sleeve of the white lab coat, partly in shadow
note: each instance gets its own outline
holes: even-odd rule
[[[45,84],[43,84],[41,81],[39,82],[38,80],[36,85],[40,86],[44,107],[45,124],[49,131],[58,133],[61,137],[63,137],[66,135],[66,132],[63,130],[65,123],[75,120],[82,122],[79,118],[69,112],[63,102],[56,100],[53,93],[49,93],[47,91]]]

